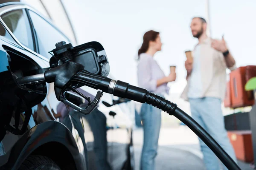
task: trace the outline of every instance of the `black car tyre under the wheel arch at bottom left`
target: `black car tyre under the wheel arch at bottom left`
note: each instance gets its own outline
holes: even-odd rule
[[[30,155],[21,164],[19,170],[61,170],[61,168],[46,156]]]

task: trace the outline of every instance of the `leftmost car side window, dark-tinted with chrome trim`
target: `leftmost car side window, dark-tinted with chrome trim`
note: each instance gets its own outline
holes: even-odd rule
[[[1,15],[3,22],[12,31],[17,40],[27,48],[34,50],[29,19],[24,9],[13,10]]]

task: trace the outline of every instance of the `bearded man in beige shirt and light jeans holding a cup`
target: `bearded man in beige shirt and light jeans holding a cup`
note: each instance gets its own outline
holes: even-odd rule
[[[236,68],[235,59],[228,51],[223,37],[222,40],[207,37],[204,18],[193,18],[190,27],[198,44],[194,48],[193,59],[185,62],[187,85],[181,97],[189,101],[192,118],[236,161],[221,111],[221,100],[224,99],[226,88],[226,68]],[[207,170],[220,170],[217,156],[201,139],[199,142]]]

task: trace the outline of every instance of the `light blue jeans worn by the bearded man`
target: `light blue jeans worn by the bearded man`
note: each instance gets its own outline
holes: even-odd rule
[[[198,122],[236,161],[236,155],[233,146],[227,136],[227,130],[224,127],[224,116],[221,111],[221,99],[213,97],[204,97],[198,99],[189,99],[192,118]],[[217,156],[209,147],[199,139],[201,151],[204,155],[204,164],[207,170],[220,170],[220,162]],[[237,162],[237,161],[236,161]],[[223,169],[227,168],[223,165]]]

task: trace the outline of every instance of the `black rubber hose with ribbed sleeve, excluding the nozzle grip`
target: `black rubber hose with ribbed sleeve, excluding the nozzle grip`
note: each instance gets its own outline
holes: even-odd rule
[[[185,125],[187,125],[205,144],[215,153],[222,163],[229,170],[241,170],[236,162],[223,150],[223,148],[207,133],[191,116],[177,108],[177,105],[164,99],[161,96],[148,92],[146,103],[155,106],[170,115],[175,116]]]

